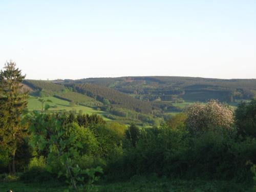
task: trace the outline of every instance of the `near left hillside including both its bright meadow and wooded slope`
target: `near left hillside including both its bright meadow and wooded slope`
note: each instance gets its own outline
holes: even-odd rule
[[[127,124],[134,122],[138,125],[153,124],[159,119],[151,115],[152,103],[141,101],[96,84],[71,84],[61,81],[25,80],[26,87],[33,90],[29,99],[29,110],[40,110],[38,97],[51,99],[51,112],[82,110],[83,113],[97,113],[108,119],[122,121]],[[73,102],[73,103],[72,103]],[[75,106],[74,103],[76,103]],[[160,119],[161,121],[162,119]]]

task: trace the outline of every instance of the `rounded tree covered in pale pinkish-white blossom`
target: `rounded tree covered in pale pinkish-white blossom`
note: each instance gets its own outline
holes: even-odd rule
[[[192,132],[219,127],[231,129],[234,123],[233,109],[217,100],[191,104],[187,107],[186,114],[186,123]]]

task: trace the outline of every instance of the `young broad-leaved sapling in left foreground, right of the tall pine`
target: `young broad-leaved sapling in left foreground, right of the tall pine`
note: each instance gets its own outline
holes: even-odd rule
[[[97,180],[93,174],[102,173],[102,169],[97,167],[83,170],[75,164],[75,159],[79,158],[79,148],[82,148],[78,137],[78,124],[63,124],[53,116],[45,114],[34,115],[30,119],[33,133],[31,145],[37,146],[40,151],[49,148],[47,161],[52,173],[58,177],[66,177],[67,182],[76,190],[87,189]],[[59,166],[57,169],[56,163]],[[84,175],[88,176],[88,180]]]

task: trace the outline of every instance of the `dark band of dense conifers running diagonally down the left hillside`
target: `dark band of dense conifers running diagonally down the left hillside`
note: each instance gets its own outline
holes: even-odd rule
[[[89,83],[74,84],[72,88],[78,93],[93,97],[100,102],[104,102],[105,99],[108,100],[112,105],[119,106],[121,108],[134,110],[140,113],[152,112],[152,106],[150,102],[140,101],[129,95],[110,88]]]

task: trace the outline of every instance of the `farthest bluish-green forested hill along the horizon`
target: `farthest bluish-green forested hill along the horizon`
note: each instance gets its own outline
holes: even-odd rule
[[[256,79],[213,79],[199,77],[117,77],[64,80],[67,83],[92,83],[131,94],[145,101],[184,99],[205,101],[251,99],[256,96]]]

